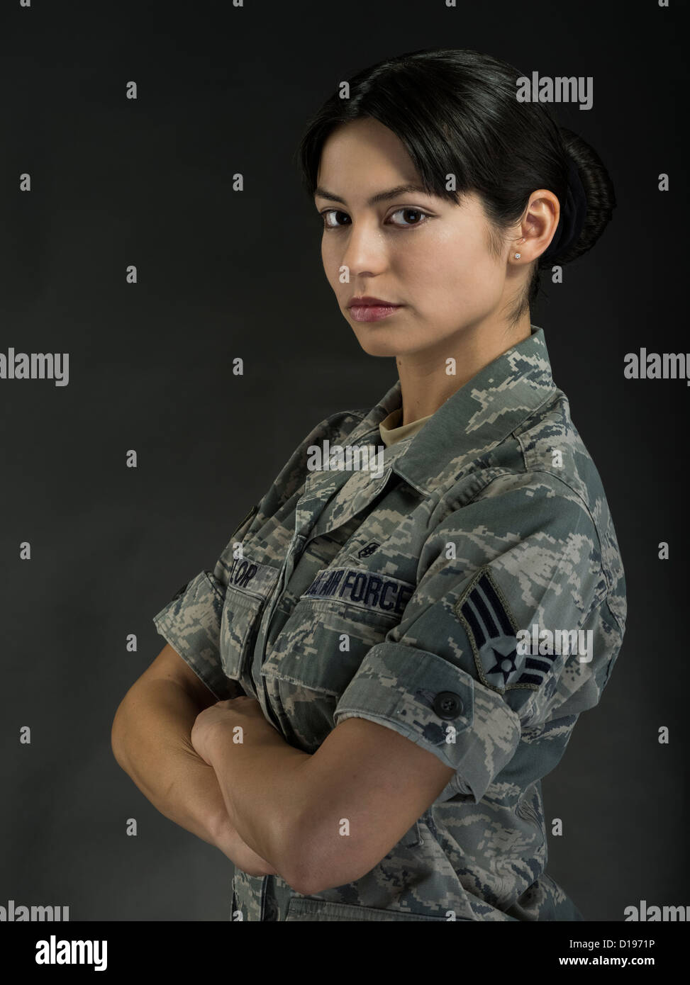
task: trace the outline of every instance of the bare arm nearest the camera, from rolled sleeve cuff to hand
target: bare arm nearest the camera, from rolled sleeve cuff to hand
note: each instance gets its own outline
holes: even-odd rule
[[[244,842],[304,895],[370,872],[454,772],[368,719],[340,721],[310,755],[286,743],[253,699],[221,705],[197,751],[213,766]]]

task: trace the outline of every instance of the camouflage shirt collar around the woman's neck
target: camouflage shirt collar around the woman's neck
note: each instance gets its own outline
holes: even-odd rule
[[[556,385],[544,331],[531,325],[528,338],[502,353],[459,387],[408,441],[392,469],[422,493],[449,483],[463,466],[486,454],[546,403]],[[378,431],[380,422],[401,406],[396,380],[349,440]],[[394,447],[394,446],[393,446]]]

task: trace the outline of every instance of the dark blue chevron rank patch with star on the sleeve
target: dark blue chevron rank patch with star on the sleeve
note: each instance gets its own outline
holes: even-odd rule
[[[504,693],[513,688],[537,690],[544,678],[546,663],[517,653],[518,626],[506,598],[488,567],[480,568],[453,611],[463,624],[474,652],[474,663],[482,684]],[[543,671],[535,673],[538,664]]]

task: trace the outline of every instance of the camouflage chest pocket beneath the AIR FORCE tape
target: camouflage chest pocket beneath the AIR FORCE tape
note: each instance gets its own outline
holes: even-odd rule
[[[331,695],[333,707],[367,651],[400,622],[415,586],[356,567],[316,572],[264,662],[267,678]]]

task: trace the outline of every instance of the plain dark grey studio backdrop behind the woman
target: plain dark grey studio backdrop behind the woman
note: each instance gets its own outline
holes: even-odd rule
[[[396,378],[340,314],[293,154],[341,80],[438,46],[592,79],[590,109],[551,108],[618,207],[563,284],[544,279],[531,321],[601,474],[629,614],[600,703],[542,784],[547,829],[564,825],[546,871],[588,920],[690,903],[690,388],[623,372],[641,348],[690,352],[684,7],[3,2],[0,352],[69,353],[69,383],[0,379],[0,904],[229,919],[231,862],[145,799],[110,726],[165,645],[153,616],[213,567],[311,427]]]

